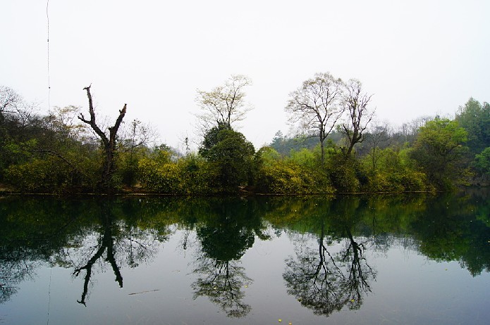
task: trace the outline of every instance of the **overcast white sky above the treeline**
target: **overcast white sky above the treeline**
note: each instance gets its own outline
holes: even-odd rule
[[[315,72],[357,78],[379,120],[453,116],[490,101],[490,1],[1,0],[0,85],[43,110],[97,109],[151,122],[161,141],[195,138],[196,89],[232,74],[253,85],[240,132],[288,132],[290,91]],[[49,100],[48,100],[49,99]]]

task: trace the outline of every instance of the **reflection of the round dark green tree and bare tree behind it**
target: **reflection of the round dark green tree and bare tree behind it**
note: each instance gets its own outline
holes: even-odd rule
[[[240,258],[253,246],[256,235],[268,238],[262,234],[262,219],[247,207],[225,202],[214,218],[196,231],[202,249],[195,260],[194,299],[207,296],[228,317],[245,317],[250,312],[250,305],[243,302],[243,289],[252,279],[239,266]]]

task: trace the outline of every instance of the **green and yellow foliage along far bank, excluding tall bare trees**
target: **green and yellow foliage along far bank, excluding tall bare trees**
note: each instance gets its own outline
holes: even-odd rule
[[[245,113],[244,108],[238,111]],[[288,137],[277,132],[271,146],[255,153],[250,141],[231,128],[240,114],[218,122],[204,135],[199,154],[183,158],[169,146],[148,148],[140,143],[138,124],[133,122],[132,137],[117,139],[109,183],[101,180],[106,152],[77,119],[78,112],[68,106],[36,115],[25,103],[4,111],[0,184],[46,193],[305,194],[453,189],[469,179],[470,163],[482,180],[490,175],[490,104],[473,98],[460,107],[455,120],[419,118],[398,134],[386,127],[374,129],[365,141],[371,146],[357,147],[351,157],[337,146],[341,134],[331,132],[324,143],[324,163],[318,141],[305,134]]]

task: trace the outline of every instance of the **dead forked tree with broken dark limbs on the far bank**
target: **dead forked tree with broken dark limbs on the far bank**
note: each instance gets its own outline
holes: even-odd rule
[[[97,122],[95,121],[95,113],[94,106],[92,103],[92,94],[90,94],[90,85],[89,87],[85,87],[83,90],[87,91],[88,103],[89,103],[89,113],[90,120],[86,120],[82,113],[78,116],[78,118],[90,125],[94,132],[99,136],[102,141],[102,145],[104,146],[105,160],[104,160],[104,169],[102,171],[102,179],[101,185],[102,189],[109,190],[111,186],[111,178],[112,174],[114,174],[115,170],[115,153],[116,153],[116,135],[119,127],[121,126],[121,122],[123,122],[123,117],[126,113],[126,104],[122,110],[119,110],[119,116],[116,119],[113,127],[109,127],[109,137],[97,126]]]

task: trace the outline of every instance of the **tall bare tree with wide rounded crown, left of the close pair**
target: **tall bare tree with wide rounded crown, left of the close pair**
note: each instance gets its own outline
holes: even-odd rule
[[[289,94],[286,111],[290,121],[299,123],[312,136],[318,136],[321,148],[321,163],[324,163],[324,141],[343,113],[340,105],[342,80],[329,72],[317,73],[302,86]]]

